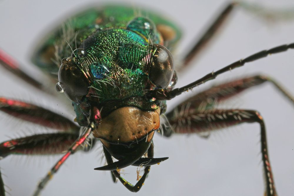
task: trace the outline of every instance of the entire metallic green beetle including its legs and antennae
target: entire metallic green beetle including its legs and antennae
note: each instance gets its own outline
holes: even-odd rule
[[[211,28],[184,57],[183,66],[209,40],[235,4],[229,4]],[[116,178],[137,192],[141,189],[150,166],[167,158],[153,158],[153,134],[159,129],[159,116],[166,112],[166,100],[245,63],[278,53],[294,44],[282,45],[255,53],[181,88],[173,89],[177,75],[172,52],[180,38],[179,29],[161,16],[141,11],[134,17],[125,6],[104,6],[80,13],[57,28],[36,50],[33,62],[56,81],[56,90],[71,100],[76,113],[75,123],[49,110],[32,104],[1,98],[1,110],[18,118],[63,130],[57,134],[39,134],[5,141],[0,144],[1,158],[10,154],[67,153],[40,182],[38,195],[64,161],[86,145],[91,136],[103,144],[108,165],[96,170],[111,170]],[[1,64],[37,88],[41,84],[10,63],[4,52]],[[57,78],[58,76],[58,78]],[[166,114],[169,127],[159,132],[203,133],[239,123],[260,124],[261,151],[265,169],[266,194],[276,195],[269,164],[265,126],[260,114],[253,110],[216,110],[215,103],[265,81],[263,76],[242,78],[221,84],[184,101]],[[280,91],[291,100],[283,88]],[[292,99],[293,102],[293,99]],[[204,110],[203,111],[203,105]],[[79,131],[82,135],[79,137]],[[78,139],[77,139],[78,138]],[[77,140],[76,140],[77,139]],[[50,141],[50,142],[49,142]],[[95,141],[95,140],[94,140]],[[56,148],[58,145],[58,148]],[[113,163],[112,157],[118,159]],[[131,185],[119,173],[128,165],[145,166],[144,175]],[[1,180],[2,192],[4,192]]]

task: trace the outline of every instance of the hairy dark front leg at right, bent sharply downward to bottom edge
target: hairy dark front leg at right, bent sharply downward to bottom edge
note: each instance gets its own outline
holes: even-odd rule
[[[276,190],[273,180],[273,173],[268,158],[268,147],[266,140],[265,124],[262,116],[254,110],[189,110],[185,114],[175,114],[169,118],[174,133],[198,133],[218,130],[221,128],[238,125],[240,123],[259,123],[261,154],[263,161],[265,195],[276,196]]]

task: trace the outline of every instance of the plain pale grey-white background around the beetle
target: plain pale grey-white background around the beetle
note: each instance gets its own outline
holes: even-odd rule
[[[292,9],[292,0],[251,1],[268,8]],[[92,1],[93,3],[93,1]],[[97,5],[102,2],[95,2]],[[86,1],[1,1],[0,2],[0,48],[5,49],[22,66],[42,79],[40,72],[29,61],[41,34],[50,30],[64,14],[74,14],[89,3]],[[225,1],[125,1],[125,5],[141,4],[165,13],[183,29],[183,39],[179,45],[181,54],[191,47],[197,35],[200,35],[209,21],[214,18]],[[139,6],[140,7],[140,6]],[[294,19],[278,22],[264,21],[243,9],[237,8],[223,31],[203,51],[188,73],[179,75],[177,87],[190,83],[205,74],[216,71],[240,58],[263,49],[284,43],[294,42]],[[246,64],[231,72],[222,74],[194,90],[194,93],[208,88],[212,84],[229,81],[232,78],[263,73],[272,76],[294,94],[294,51],[289,50],[265,59]],[[20,98],[46,108],[57,110],[74,118],[62,106],[62,102],[29,87],[7,71],[0,69],[0,96]],[[54,88],[54,86],[52,86]],[[168,102],[171,109],[181,102],[188,92]],[[58,105],[57,105],[58,104]],[[248,108],[260,111],[265,119],[268,134],[269,156],[279,195],[294,195],[294,107],[283,98],[272,85],[265,84],[246,91],[225,108]],[[9,137],[40,133],[41,128],[21,123],[0,114],[0,141]],[[23,133],[23,132],[26,133]],[[9,137],[7,137],[9,136]],[[155,157],[168,156],[160,165],[151,167],[145,185],[136,195],[262,195],[263,177],[259,137],[259,125],[250,124],[232,129],[217,131],[208,140],[196,135],[179,135],[172,138],[154,136]],[[135,195],[120,183],[113,184],[109,172],[94,171],[103,165],[100,150],[96,145],[91,153],[76,153],[54,176],[42,195]],[[4,182],[11,188],[11,195],[31,195],[37,182],[44,177],[51,166],[61,157],[19,158],[10,156],[0,161],[1,171],[6,175]],[[131,167],[125,175],[132,183],[136,179],[136,167]],[[8,188],[6,187],[8,190]]]

